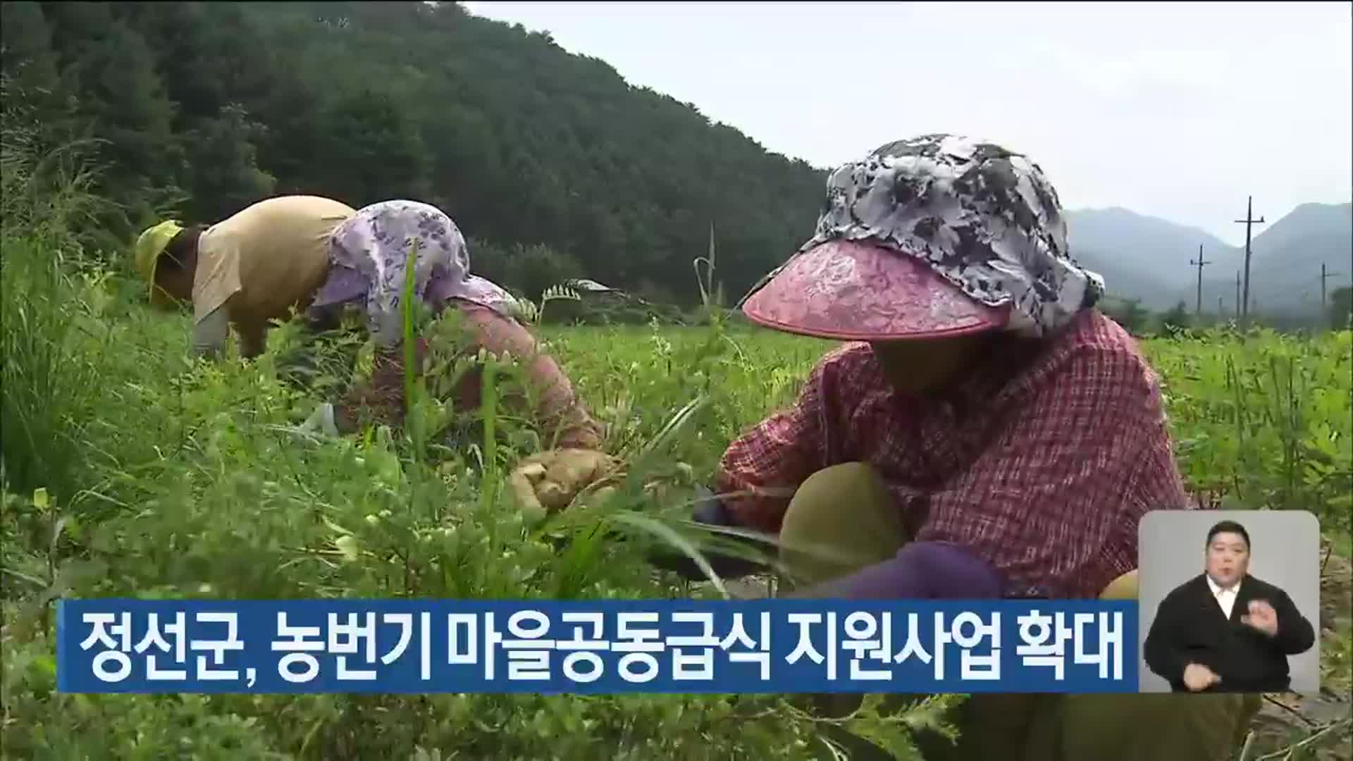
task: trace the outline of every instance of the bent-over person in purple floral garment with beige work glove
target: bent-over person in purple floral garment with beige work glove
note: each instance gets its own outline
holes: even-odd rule
[[[368,383],[352,389],[333,405],[338,432],[357,428],[363,412],[382,422],[399,424],[405,410],[402,297],[409,252],[417,245],[414,295],[440,316],[459,310],[468,341],[451,353],[486,349],[521,359],[538,391],[537,421],[555,447],[529,458],[541,470],[571,473],[549,479],[544,506],[561,506],[594,475],[609,466],[601,450],[601,433],[574,394],[555,360],[540,352],[532,334],[514,318],[517,301],[499,286],[469,274],[469,252],[456,223],[441,210],[415,200],[386,200],[367,206],[340,225],[329,248],[329,276],[307,311],[315,333],[336,330],[345,309],[365,313],[373,339],[373,371]],[[423,368],[430,349],[428,337],[415,341]],[[452,390],[457,409],[480,405],[480,370],[465,372]],[[541,481],[544,487],[545,481]]]

